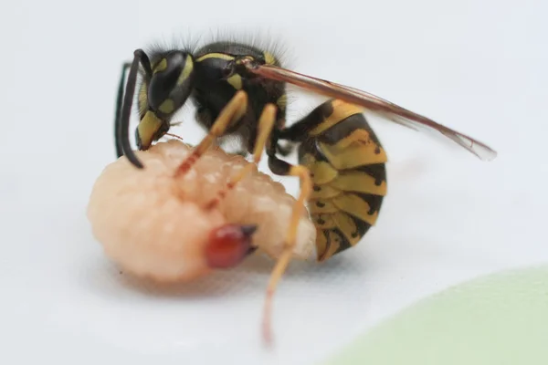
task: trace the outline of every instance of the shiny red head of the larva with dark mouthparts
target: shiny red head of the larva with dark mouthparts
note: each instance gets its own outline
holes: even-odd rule
[[[255,251],[255,247],[251,246],[251,235],[256,229],[256,225],[226,224],[213,230],[205,246],[207,266],[211,268],[237,266]]]

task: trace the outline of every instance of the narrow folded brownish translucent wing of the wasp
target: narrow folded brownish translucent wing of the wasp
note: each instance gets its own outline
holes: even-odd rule
[[[386,120],[391,120],[413,130],[438,131],[483,161],[490,161],[497,157],[497,152],[493,151],[486,144],[363,90],[353,89],[321,78],[312,78],[311,76],[272,65],[257,65],[251,61],[243,63],[248,71],[260,77],[285,81],[327,97],[342,99],[360,105]]]

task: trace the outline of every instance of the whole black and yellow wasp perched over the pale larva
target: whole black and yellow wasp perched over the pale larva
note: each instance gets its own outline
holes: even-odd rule
[[[137,86],[139,75],[142,83]],[[288,84],[329,99],[286,127]],[[486,144],[388,100],[284,68],[272,51],[215,41],[196,50],[154,49],[147,54],[136,49],[132,62],[123,64],[116,104],[116,151],[118,157],[125,155],[139,169],[144,166],[129,139],[136,90],[140,122],[135,141],[141,151],[168,134],[174,113],[189,99],[195,103],[195,118],[207,135],[175,176],[188,171],[217,139],[232,136],[242,141],[241,148],[253,155],[255,163],[266,151],[271,172],[300,179],[285,248],[267,289],[263,317],[267,339],[272,297],[290,263],[298,221],[307,206],[317,228],[318,261],[357,245],[377,220],[386,194],[387,157],[364,117],[365,111],[412,129],[437,131],[481,160],[497,155]],[[294,147],[298,164],[283,160]],[[215,206],[245,173],[228,182],[209,206]]]

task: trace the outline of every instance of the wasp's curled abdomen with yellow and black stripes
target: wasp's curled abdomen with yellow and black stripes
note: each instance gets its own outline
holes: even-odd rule
[[[300,144],[300,163],[314,183],[309,211],[318,260],[356,245],[375,224],[386,194],[386,154],[362,110],[326,102],[323,119]]]

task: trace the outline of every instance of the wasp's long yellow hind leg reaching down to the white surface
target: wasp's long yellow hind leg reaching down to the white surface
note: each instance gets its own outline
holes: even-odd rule
[[[272,340],[271,312],[274,292],[276,291],[276,287],[278,286],[281,276],[283,276],[286,268],[290,265],[290,259],[293,254],[293,247],[297,237],[297,230],[299,228],[300,217],[306,209],[304,203],[308,201],[312,190],[311,174],[306,167],[300,165],[291,166],[287,162],[285,162],[285,164],[289,167],[289,171],[284,173],[284,175],[298,176],[300,178],[300,194],[297,202],[295,202],[295,205],[293,206],[290,227],[286,235],[283,251],[281,252],[281,255],[279,255],[276,265],[270,274],[269,287],[267,287],[267,295],[263,312],[263,337],[267,343],[270,343]]]

